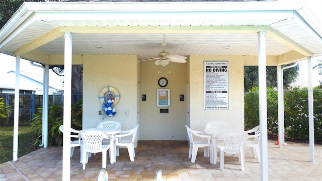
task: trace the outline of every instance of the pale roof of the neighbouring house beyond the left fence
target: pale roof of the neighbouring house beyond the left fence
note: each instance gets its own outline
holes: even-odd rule
[[[15,89],[16,84],[16,72],[9,71],[7,72],[4,77],[0,81],[0,88],[5,89]],[[21,90],[26,91],[42,91],[43,90],[43,81],[37,81],[29,76],[26,76],[20,73],[20,87]],[[56,91],[57,89],[52,86],[48,86],[49,92]]]

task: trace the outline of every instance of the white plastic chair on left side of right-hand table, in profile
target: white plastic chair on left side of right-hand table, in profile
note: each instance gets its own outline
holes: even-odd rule
[[[204,157],[209,156],[210,136],[203,135],[202,131],[194,131],[194,130],[191,130],[187,125],[185,126],[187,128],[187,133],[189,137],[189,156],[188,157],[189,158],[191,157],[191,162],[194,163],[196,161],[198,148],[200,147],[204,147]]]

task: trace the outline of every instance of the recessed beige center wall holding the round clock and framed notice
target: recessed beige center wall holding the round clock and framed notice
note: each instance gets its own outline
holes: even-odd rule
[[[186,140],[186,64],[170,63],[156,66],[153,61],[141,62],[140,95],[146,95],[146,101],[140,99],[140,140]],[[169,73],[170,71],[170,73]],[[164,88],[170,89],[170,107],[156,107],[157,81],[166,77],[169,81]],[[169,113],[159,113],[160,109],[169,109]]]

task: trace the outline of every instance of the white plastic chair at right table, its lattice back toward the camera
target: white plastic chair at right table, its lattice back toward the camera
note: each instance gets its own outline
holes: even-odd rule
[[[245,141],[248,139],[248,134],[244,131],[226,131],[221,132],[216,136],[217,140],[223,140],[224,145],[217,145],[217,149],[220,152],[220,169],[223,170],[224,166],[224,153],[238,154],[239,164],[241,170],[244,170],[244,148]],[[217,151],[215,152],[215,160],[217,159]],[[216,160],[217,162],[217,160]],[[215,162],[215,164],[216,164]]]

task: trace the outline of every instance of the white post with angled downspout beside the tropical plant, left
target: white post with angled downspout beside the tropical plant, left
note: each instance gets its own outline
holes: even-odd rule
[[[48,86],[49,86],[49,65],[45,67],[37,65],[30,61],[30,64],[43,69],[43,100],[42,100],[42,139],[39,146],[47,148],[48,145]]]

